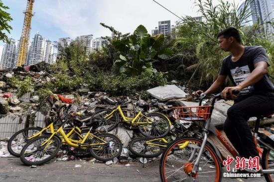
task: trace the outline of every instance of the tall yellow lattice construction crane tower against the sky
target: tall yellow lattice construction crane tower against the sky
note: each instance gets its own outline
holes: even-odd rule
[[[18,49],[18,57],[17,57],[17,66],[21,66],[26,63],[26,55],[28,50],[29,44],[29,35],[31,29],[31,18],[33,16],[32,9],[33,9],[34,0],[27,0],[26,10],[23,12],[25,14],[24,17],[24,24],[22,29],[22,34],[19,43]]]

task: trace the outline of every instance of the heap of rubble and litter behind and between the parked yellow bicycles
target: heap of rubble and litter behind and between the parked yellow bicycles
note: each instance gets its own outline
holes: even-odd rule
[[[0,72],[0,114],[33,114],[40,111],[46,116],[45,124],[52,121],[52,116],[56,115],[56,110],[52,110],[53,105],[60,104],[59,101],[52,103],[53,105],[45,102],[42,96],[37,91],[47,82],[54,81],[56,78],[53,77],[53,71],[50,70],[50,66],[45,63],[39,63],[36,65],[18,67],[13,70]],[[23,95],[18,95],[18,90],[14,89],[17,83],[16,79],[12,81],[12,78],[20,78],[24,80],[26,77],[30,77],[32,82],[35,83],[35,88],[30,89],[30,94],[24,93]],[[12,85],[14,84],[14,85]],[[92,114],[101,108],[111,108],[117,107],[118,103],[125,101],[126,110],[125,115],[128,117],[134,117],[136,112],[142,110],[143,112],[161,112],[169,117],[174,126],[171,127],[171,132],[169,138],[175,139],[179,133],[183,133],[191,125],[191,121],[176,120],[172,114],[173,106],[185,106],[188,105],[186,102],[193,102],[193,97],[191,93],[192,90],[185,86],[176,86],[177,81],[171,81],[171,85],[160,86],[153,89],[147,90],[147,99],[141,99],[141,92],[136,92],[130,95],[121,96],[110,96],[107,92],[92,91],[87,86],[82,86],[77,91],[70,93],[58,93],[63,95],[65,98],[70,98],[75,100],[72,103],[72,107],[69,110],[70,119],[78,119],[83,122],[83,127],[85,123],[88,122]],[[30,96],[31,95],[31,96]],[[197,102],[197,101],[195,101]],[[128,103],[128,104],[127,104]],[[221,101],[223,103],[223,101]],[[64,103],[63,103],[64,104]],[[143,109],[139,105],[148,104],[149,107]],[[197,105],[197,103],[194,103]],[[191,106],[191,105],[188,105]],[[216,110],[218,105],[216,105]],[[227,109],[227,108],[226,108]],[[225,112],[225,111],[224,111]],[[219,111],[218,111],[219,113]],[[213,113],[214,116],[215,113]],[[218,118],[218,117],[217,117]],[[224,119],[217,119],[218,121]],[[214,118],[213,118],[214,121]],[[274,133],[274,125],[266,127],[265,129],[269,133]],[[177,133],[176,133],[177,131]],[[132,130],[130,128],[124,127],[123,124],[119,124],[117,128],[111,131],[111,133],[117,135],[123,142],[123,152],[120,156],[120,163],[128,165],[129,162],[134,161],[131,152],[127,149],[129,142],[132,138],[141,137],[139,132]],[[9,157],[6,150],[6,141],[0,141],[0,157]],[[58,153],[58,159],[60,161],[75,160],[75,156],[69,153],[69,150],[62,149]],[[87,160],[94,162],[95,159],[86,158],[82,160]],[[138,160],[138,159],[137,159]],[[152,159],[154,160],[154,159]],[[139,159],[141,163],[146,163],[146,159]],[[116,160],[112,162],[107,162],[106,165],[112,165],[117,163]]]

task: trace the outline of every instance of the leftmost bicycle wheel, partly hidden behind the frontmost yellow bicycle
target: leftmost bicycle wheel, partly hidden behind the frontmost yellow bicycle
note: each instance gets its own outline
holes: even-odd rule
[[[14,156],[14,157],[20,157],[20,152],[21,152],[21,149],[23,148],[23,146],[27,143],[27,136],[25,136],[26,134],[26,131],[29,131],[29,130],[33,130],[33,131],[37,131],[37,133],[39,131],[42,130],[42,128],[39,128],[39,127],[29,127],[29,128],[24,128],[24,129],[21,129],[19,131],[17,131],[16,133],[14,133],[10,139],[8,140],[7,142],[7,150],[8,152]],[[28,133],[28,132],[27,132]],[[33,135],[34,133],[30,133],[31,135]],[[14,139],[16,140],[16,137],[20,137],[20,135],[22,135],[23,138],[20,138],[18,139],[19,141],[16,142],[16,145],[12,145],[12,142],[14,141]],[[31,136],[29,135],[29,136]],[[15,142],[15,141],[14,141]],[[15,147],[15,148],[14,148]],[[16,150],[15,150],[16,149]]]

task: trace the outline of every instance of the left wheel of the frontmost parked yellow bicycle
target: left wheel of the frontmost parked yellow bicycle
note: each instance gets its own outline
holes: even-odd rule
[[[55,135],[51,138],[50,141],[52,141],[52,142],[50,143],[50,146],[46,145],[46,147],[47,147],[47,149],[50,149],[50,150],[54,149],[54,150],[46,151],[46,153],[49,155],[46,155],[45,157],[44,157],[45,153],[42,154],[45,151],[44,151],[44,149],[41,150],[41,148],[40,148],[41,146],[39,145],[39,144],[43,143],[45,140],[47,140],[50,136],[51,135],[42,135],[42,136],[36,137],[32,140],[29,140],[21,150],[21,153],[20,153],[21,162],[27,166],[32,166],[32,165],[38,166],[38,165],[45,164],[46,162],[53,159],[57,155],[57,153],[60,149],[60,146],[61,146],[60,138]],[[35,161],[35,159],[37,159],[37,158],[34,158],[36,155],[33,156],[33,152],[31,152],[32,155],[26,154],[29,150],[32,150],[32,149],[34,150],[35,142],[36,142],[36,151],[41,151],[40,155],[39,155],[39,159],[40,159],[40,157],[43,157],[43,158],[41,158],[42,160],[40,160],[40,161]],[[52,147],[53,144],[56,144],[56,145],[54,147]],[[38,147],[38,149],[37,149],[37,147]],[[41,154],[42,154],[42,156],[41,156]],[[27,157],[27,156],[29,156],[29,157]],[[38,157],[38,155],[37,155],[37,157]]]

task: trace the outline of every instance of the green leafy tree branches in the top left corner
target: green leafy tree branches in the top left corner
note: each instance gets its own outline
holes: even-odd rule
[[[10,33],[12,27],[8,24],[8,22],[13,20],[10,17],[10,14],[5,11],[6,9],[9,9],[9,7],[5,6],[2,0],[0,0],[0,40],[3,42],[8,42],[8,37],[4,31]]]

